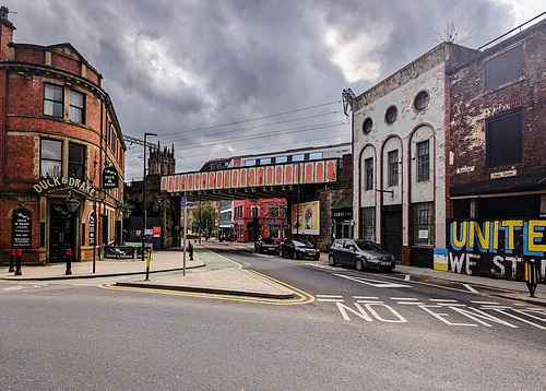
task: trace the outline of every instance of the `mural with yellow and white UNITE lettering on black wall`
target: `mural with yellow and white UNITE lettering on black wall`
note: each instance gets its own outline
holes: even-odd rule
[[[448,220],[448,268],[523,281],[524,262],[546,274],[546,220]]]

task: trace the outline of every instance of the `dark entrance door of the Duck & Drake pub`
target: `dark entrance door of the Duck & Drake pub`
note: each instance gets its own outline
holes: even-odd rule
[[[66,262],[67,250],[75,253],[75,213],[63,204],[51,204],[49,209],[49,262]]]

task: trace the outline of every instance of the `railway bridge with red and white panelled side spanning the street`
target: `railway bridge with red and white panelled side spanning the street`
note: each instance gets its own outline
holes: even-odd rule
[[[319,244],[330,244],[333,210],[351,194],[351,155],[306,162],[200,170],[161,177],[164,197],[188,201],[284,198],[288,206],[319,202]],[[180,203],[178,203],[180,204]]]

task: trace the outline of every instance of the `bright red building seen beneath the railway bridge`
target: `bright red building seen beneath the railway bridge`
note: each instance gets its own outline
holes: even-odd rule
[[[260,236],[283,240],[287,232],[286,199],[234,201],[237,241],[256,241]]]

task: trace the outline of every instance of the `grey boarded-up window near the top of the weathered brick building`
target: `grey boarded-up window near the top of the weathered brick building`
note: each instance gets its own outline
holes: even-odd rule
[[[485,62],[485,90],[494,91],[523,79],[523,45]]]

